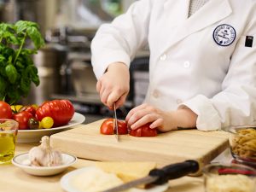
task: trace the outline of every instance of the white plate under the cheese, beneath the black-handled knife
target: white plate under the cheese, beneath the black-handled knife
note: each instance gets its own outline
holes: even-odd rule
[[[81,174],[82,172],[87,172],[90,169],[95,169],[95,166],[86,166],[84,168],[74,170],[73,172],[68,172],[66,175],[61,177],[61,188],[64,189],[65,191],[67,191],[67,192],[82,192],[79,189],[76,189],[70,183],[70,181],[75,175]],[[84,178],[84,179],[86,179],[86,178]],[[166,191],[166,189],[168,189],[168,187],[169,187],[169,184],[166,183],[166,184],[156,186],[156,187],[151,188],[151,189],[132,189],[130,191],[131,192],[163,192],[163,191]]]

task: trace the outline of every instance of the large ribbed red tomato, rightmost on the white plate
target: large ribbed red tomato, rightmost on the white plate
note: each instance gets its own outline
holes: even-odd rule
[[[44,102],[36,112],[38,120],[42,120],[44,117],[51,117],[54,119],[53,127],[67,125],[73,118],[73,114],[73,104],[64,99]]]

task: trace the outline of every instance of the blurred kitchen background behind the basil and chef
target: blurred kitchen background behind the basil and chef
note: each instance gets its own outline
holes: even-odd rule
[[[38,22],[46,46],[33,60],[40,85],[20,104],[69,99],[90,123],[112,116],[100,102],[90,63],[90,42],[97,28],[124,13],[136,0],[0,0],[1,22]],[[148,49],[131,63],[131,91],[119,118],[143,102],[148,88]]]

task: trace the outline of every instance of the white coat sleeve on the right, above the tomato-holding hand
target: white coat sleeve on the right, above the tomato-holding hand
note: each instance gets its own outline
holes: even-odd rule
[[[212,98],[195,96],[179,106],[198,114],[196,126],[201,131],[256,125],[256,14],[251,14],[230,59],[222,91]],[[253,37],[252,47],[245,46],[247,36]]]

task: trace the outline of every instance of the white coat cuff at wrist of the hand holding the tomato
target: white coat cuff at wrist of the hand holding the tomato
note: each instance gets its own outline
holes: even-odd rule
[[[181,103],[178,108],[189,108],[198,115],[196,127],[200,131],[215,131],[221,129],[221,119],[212,102],[202,95],[195,96],[187,102]]]

